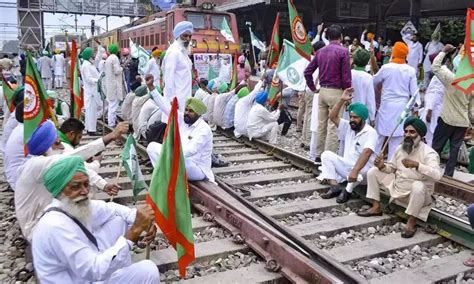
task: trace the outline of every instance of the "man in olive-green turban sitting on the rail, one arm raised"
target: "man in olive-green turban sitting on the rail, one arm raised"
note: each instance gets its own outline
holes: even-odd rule
[[[153,76],[147,75],[146,82],[150,95],[161,109],[163,114],[169,116],[171,105],[153,85]],[[209,180],[214,181],[214,174],[211,170],[212,164],[212,130],[202,119],[207,108],[204,103],[196,98],[187,98],[185,102],[184,114],[178,110],[178,125],[181,135],[181,146],[183,147],[186,173],[190,181]],[[155,166],[161,153],[161,144],[151,142],[146,149],[150,160]]]

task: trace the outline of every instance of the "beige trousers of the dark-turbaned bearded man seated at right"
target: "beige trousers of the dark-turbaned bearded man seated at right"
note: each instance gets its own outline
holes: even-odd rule
[[[380,201],[380,190],[390,194],[388,188],[395,178],[395,174],[387,174],[380,171],[377,167],[371,168],[367,172],[367,198]],[[408,204],[405,213],[418,217],[423,207],[431,204],[431,193],[425,184],[421,181],[413,182],[410,195],[404,198],[398,198],[397,201]]]

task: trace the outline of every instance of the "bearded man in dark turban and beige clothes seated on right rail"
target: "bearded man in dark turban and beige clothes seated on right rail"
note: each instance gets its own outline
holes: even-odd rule
[[[441,179],[442,173],[438,153],[422,141],[427,131],[425,123],[419,118],[408,117],[403,129],[403,143],[392,160],[384,163],[383,158],[377,156],[375,167],[367,173],[367,198],[373,200],[372,207],[357,214],[363,217],[382,215],[380,189],[388,189],[391,201],[408,203],[405,213],[409,218],[401,235],[411,238],[416,233],[416,218],[426,221],[428,217],[428,212],[422,209],[431,204],[434,183]]]

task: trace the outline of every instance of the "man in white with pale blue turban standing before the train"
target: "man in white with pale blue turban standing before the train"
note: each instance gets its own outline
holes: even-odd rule
[[[162,62],[163,81],[165,84],[163,94],[171,102],[178,98],[178,106],[184,111],[186,99],[192,95],[192,62],[189,59],[189,43],[194,28],[188,21],[179,22],[173,29],[175,41],[166,50]],[[163,113],[161,122],[168,122],[168,115]]]

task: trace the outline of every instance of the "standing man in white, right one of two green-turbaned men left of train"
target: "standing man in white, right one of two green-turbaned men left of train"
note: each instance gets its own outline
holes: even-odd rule
[[[115,127],[117,124],[117,110],[119,103],[123,100],[123,68],[120,66],[118,59],[119,48],[117,44],[109,46],[110,55],[105,60],[105,89],[107,91],[106,98],[109,104],[107,113],[108,125]]]

